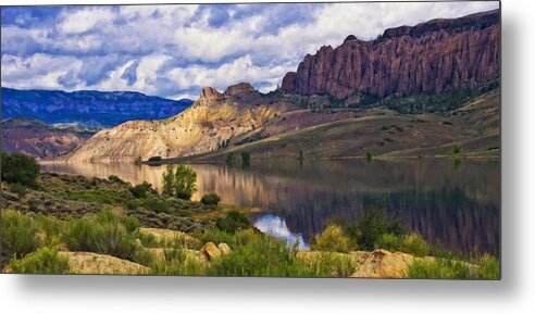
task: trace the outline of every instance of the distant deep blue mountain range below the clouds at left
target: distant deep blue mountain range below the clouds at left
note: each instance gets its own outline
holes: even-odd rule
[[[49,124],[112,127],[132,120],[162,120],[191,105],[134,91],[60,91],[2,88],[2,120],[30,117]]]

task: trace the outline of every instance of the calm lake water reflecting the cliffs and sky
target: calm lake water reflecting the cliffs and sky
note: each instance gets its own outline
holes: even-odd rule
[[[46,164],[46,171],[160,188],[165,166],[134,164]],[[333,218],[354,219],[364,209],[386,209],[428,241],[457,251],[499,253],[500,171],[497,161],[298,161],[252,164],[248,169],[191,165],[199,191],[215,191],[222,202],[258,206],[262,231],[299,241],[320,233]]]

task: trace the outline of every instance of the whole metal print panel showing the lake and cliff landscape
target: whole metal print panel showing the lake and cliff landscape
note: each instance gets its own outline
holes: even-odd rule
[[[500,3],[1,8],[1,269],[500,278]]]

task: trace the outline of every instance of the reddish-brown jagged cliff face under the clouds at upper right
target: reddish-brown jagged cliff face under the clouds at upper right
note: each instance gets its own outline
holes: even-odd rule
[[[349,36],[307,55],[282,89],[302,96],[399,96],[473,89],[499,77],[499,11],[385,30],[374,41]]]

